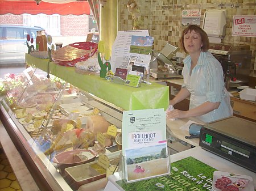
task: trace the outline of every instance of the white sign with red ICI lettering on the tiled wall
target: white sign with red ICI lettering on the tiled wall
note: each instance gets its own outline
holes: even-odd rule
[[[233,16],[232,36],[256,37],[256,16]]]

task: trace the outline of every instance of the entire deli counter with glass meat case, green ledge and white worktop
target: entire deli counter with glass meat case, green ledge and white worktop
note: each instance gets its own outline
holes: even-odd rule
[[[72,67],[49,63],[48,68],[47,60],[39,60],[28,54],[26,59],[28,65],[34,67],[24,70],[23,76],[19,77],[22,83],[14,88],[13,95],[2,97],[0,116],[40,190],[103,190],[108,180],[104,178],[105,169],[96,165],[97,153],[104,152],[110,162],[113,162],[109,165],[117,165],[121,147],[117,139],[106,135],[106,145],[102,148],[95,142],[95,133],[103,132],[100,129],[102,126],[106,131],[110,125],[116,126],[117,133],[121,133],[124,110],[166,109],[168,87],[157,83],[150,86],[143,84],[139,88],[122,87],[97,76],[77,74]],[[47,71],[50,78],[47,78]],[[117,90],[121,96],[115,95]],[[98,119],[95,120],[94,117]],[[185,139],[189,133],[180,127],[189,120],[195,119],[167,120],[171,159],[191,155],[195,151],[193,147],[197,147],[195,154],[213,158],[207,151],[198,152],[201,150],[199,138]],[[97,121],[101,121],[100,127]],[[92,129],[93,134],[85,133],[82,129]],[[69,154],[71,148],[82,152],[71,153],[74,156],[72,162],[61,162],[66,158],[61,154]],[[88,150],[90,153],[85,154]],[[67,165],[78,164],[84,157],[88,158],[88,163]],[[220,169],[224,167],[223,161],[229,167],[243,169],[241,172],[249,173],[255,178],[255,173],[238,168],[225,159],[220,160]],[[229,170],[233,171],[231,168]],[[116,180],[113,178],[115,176],[110,176],[109,180]],[[107,186],[105,190],[111,189]]]

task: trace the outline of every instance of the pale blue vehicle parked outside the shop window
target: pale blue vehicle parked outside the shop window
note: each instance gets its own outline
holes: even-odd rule
[[[42,30],[44,29],[41,27],[0,24],[0,65],[25,63],[25,54],[28,52],[27,34],[34,39],[35,46],[36,31]]]

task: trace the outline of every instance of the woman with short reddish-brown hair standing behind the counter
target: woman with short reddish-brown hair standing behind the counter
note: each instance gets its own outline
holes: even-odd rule
[[[201,121],[210,122],[232,116],[222,66],[208,52],[207,33],[196,25],[190,25],[184,29],[180,45],[189,56],[183,60],[183,86],[170,101],[170,105],[175,105],[190,95],[189,110],[175,109],[167,113],[167,118],[197,117]]]

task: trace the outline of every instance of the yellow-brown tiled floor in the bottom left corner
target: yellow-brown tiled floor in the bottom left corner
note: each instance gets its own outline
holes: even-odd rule
[[[0,148],[0,191],[22,191],[8,159]]]

